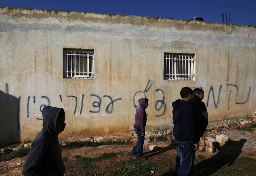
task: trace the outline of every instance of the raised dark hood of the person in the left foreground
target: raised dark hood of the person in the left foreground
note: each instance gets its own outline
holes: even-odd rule
[[[56,122],[61,111],[64,111],[63,108],[56,108],[52,106],[44,106],[43,114],[43,130],[47,131],[51,135],[58,136],[59,133],[56,133]]]

